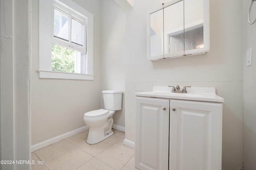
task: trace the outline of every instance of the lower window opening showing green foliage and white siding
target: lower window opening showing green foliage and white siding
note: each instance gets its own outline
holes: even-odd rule
[[[86,73],[85,53],[52,44],[52,71]]]

